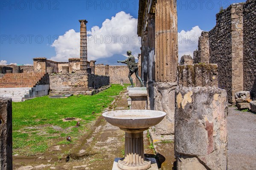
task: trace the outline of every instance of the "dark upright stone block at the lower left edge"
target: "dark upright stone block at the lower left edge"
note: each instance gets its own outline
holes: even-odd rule
[[[0,98],[0,169],[12,170],[11,98]]]

